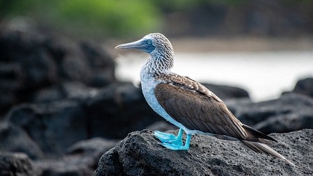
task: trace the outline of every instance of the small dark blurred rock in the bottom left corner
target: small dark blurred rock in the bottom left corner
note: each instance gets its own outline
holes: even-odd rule
[[[0,175],[35,175],[33,162],[23,153],[0,152]]]

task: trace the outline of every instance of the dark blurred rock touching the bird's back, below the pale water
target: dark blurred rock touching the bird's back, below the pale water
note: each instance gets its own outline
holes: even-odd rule
[[[232,98],[249,98],[249,94],[242,88],[236,88],[233,86],[220,86],[211,83],[202,83],[203,86],[209,88],[220,99],[232,99]]]

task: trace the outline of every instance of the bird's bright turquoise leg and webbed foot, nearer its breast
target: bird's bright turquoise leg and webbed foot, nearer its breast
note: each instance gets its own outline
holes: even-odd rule
[[[182,145],[182,134],[183,129],[179,129],[177,136],[174,134],[167,134],[161,131],[154,131],[154,136],[156,136],[162,143],[172,143],[175,145]]]

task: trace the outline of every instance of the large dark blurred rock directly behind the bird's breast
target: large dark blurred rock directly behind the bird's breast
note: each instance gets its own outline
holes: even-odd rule
[[[124,138],[162,120],[145,102],[141,89],[131,83],[115,83],[99,90],[86,102],[90,135]]]

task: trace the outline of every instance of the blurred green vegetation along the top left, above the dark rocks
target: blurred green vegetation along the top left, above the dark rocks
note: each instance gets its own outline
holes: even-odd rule
[[[158,31],[161,14],[143,0],[0,0],[1,16],[29,16],[73,35],[127,36]]]

